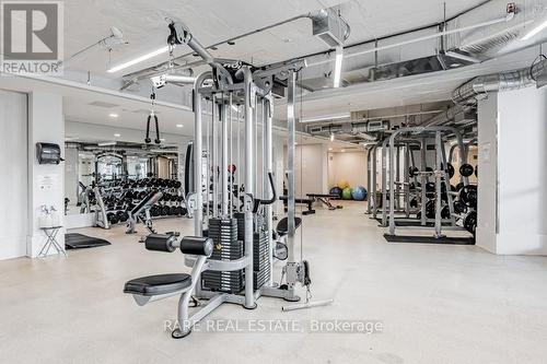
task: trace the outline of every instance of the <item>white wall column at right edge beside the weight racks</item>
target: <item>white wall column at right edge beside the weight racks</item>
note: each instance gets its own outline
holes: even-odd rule
[[[497,145],[488,137],[496,132]],[[480,103],[479,246],[500,255],[547,255],[546,160],[547,87]]]

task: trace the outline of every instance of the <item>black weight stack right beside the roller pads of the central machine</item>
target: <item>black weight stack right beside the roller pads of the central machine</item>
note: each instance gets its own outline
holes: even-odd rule
[[[243,242],[237,240],[237,220],[210,219],[208,236],[213,240],[212,260],[236,260],[243,257]],[[243,271],[210,271],[201,274],[203,289],[240,293],[245,287]]]

